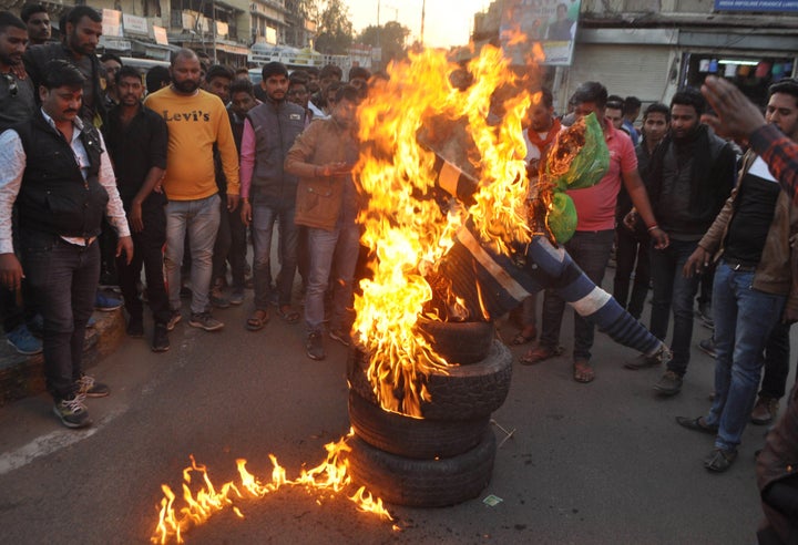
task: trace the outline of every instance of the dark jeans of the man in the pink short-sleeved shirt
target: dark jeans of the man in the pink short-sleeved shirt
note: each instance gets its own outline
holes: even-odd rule
[[[614,237],[614,229],[577,230],[573,238],[565,243],[565,250],[571,255],[571,258],[596,286],[601,286],[604,279],[604,271],[610,260]],[[541,316],[541,322],[543,323],[540,339],[541,346],[554,348],[560,342],[560,327],[564,310],[565,300],[555,292],[546,290],[543,297],[543,313]],[[594,326],[574,312],[574,358],[590,359],[594,336]]]

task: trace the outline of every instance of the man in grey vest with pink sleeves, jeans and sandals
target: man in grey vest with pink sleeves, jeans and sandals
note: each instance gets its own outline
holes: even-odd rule
[[[286,100],[288,69],[279,62],[263,68],[266,101],[249,110],[242,136],[242,220],[252,224],[255,311],[247,319],[250,331],[269,319],[272,299],[272,234],[279,222],[277,311],[286,322],[299,321],[290,298],[297,267],[298,232],[294,222],[297,177],[283,169],[288,150],[305,128],[305,110]]]

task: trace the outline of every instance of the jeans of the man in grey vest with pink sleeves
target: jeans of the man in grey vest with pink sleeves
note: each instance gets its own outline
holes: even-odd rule
[[[253,194],[253,281],[255,308],[266,310],[272,291],[272,235],[279,223],[280,240],[277,245],[280,270],[277,275],[277,297],[280,307],[290,305],[291,289],[297,263],[297,226],[294,224],[296,196],[282,198]]]

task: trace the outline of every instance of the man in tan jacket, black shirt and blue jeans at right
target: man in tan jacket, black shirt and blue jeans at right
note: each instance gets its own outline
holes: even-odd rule
[[[769,91],[766,120],[795,142],[798,82],[782,80]],[[685,276],[699,274],[720,255],[713,287],[715,398],[706,415],[676,419],[716,435],[704,461],[709,471],[726,471],[736,460],[759,384],[761,352],[779,320],[796,316],[790,238],[797,233],[798,208],[765,161],[748,151],[737,187],[684,267]]]

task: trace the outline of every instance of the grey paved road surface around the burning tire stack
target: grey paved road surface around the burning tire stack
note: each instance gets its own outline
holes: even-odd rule
[[[270,473],[268,453],[289,476],[319,463],[323,445],[348,431],[346,350],[330,342],[326,361],[310,361],[303,327],[276,318],[248,332],[249,302],[218,311],[226,322],[218,333],[178,325],[165,354],[126,340],[94,369],[113,393],[90,401],[95,425],[88,431],[62,428],[44,395],[1,409],[0,542],[145,543],[161,484],[180,486],[190,454],[207,464],[217,484],[235,479],[237,457],[263,476]],[[569,311],[566,346],[571,330]],[[696,326],[694,340],[707,335]],[[663,400],[651,389],[658,370],[623,370],[634,353],[596,339],[592,384],[571,379],[566,357],[514,367],[510,395],[494,418],[516,431],[477,500],[449,508],[392,507],[393,529],[342,496],[286,490],[242,502],[243,521],[225,512],[185,537],[326,545],[754,543],[760,518],[754,451],[764,430],[750,425],[736,465],[715,475],[700,465],[712,439],[674,422],[708,408],[709,358],[696,349],[682,394]],[[485,506],[488,494],[503,502]]]

